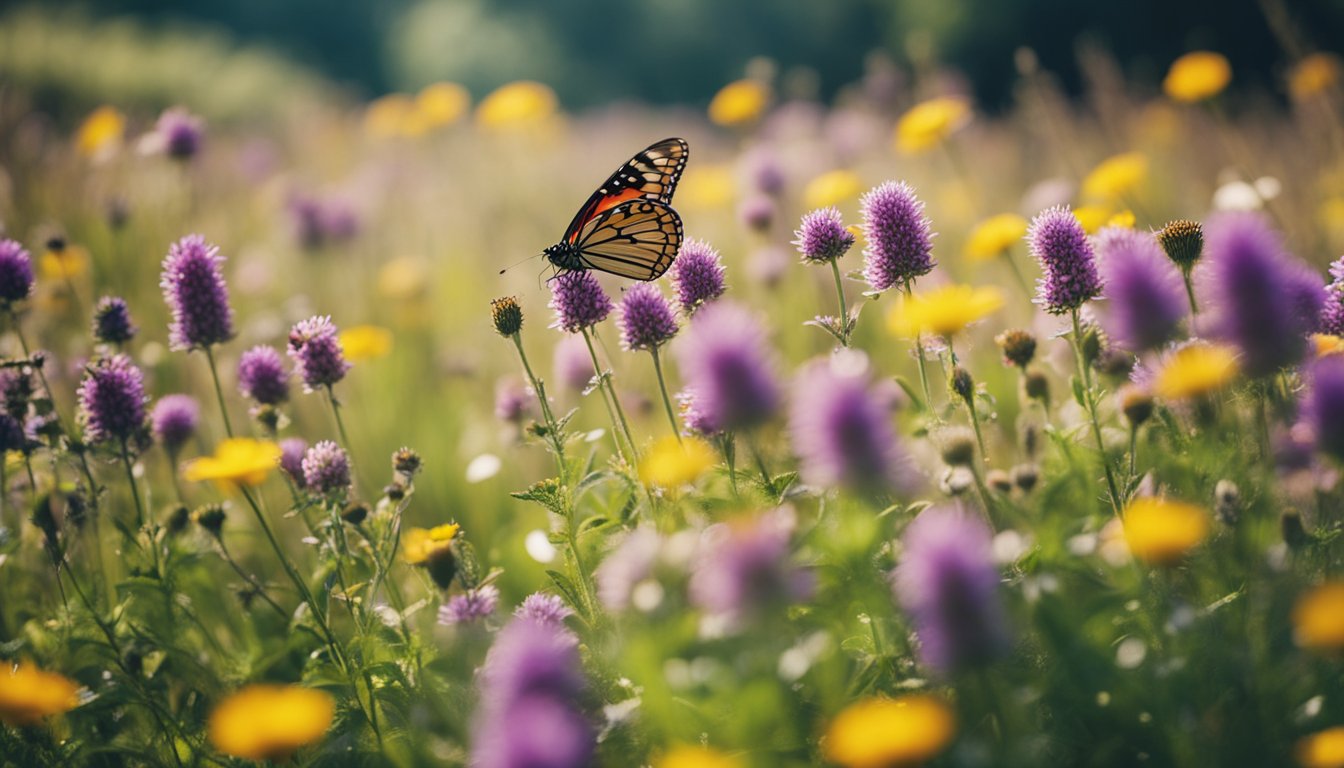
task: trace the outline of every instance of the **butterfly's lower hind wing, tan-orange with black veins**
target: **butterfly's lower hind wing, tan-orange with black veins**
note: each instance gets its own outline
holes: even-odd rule
[[[657,280],[681,247],[681,217],[659,200],[626,200],[589,219],[574,245],[585,269]]]

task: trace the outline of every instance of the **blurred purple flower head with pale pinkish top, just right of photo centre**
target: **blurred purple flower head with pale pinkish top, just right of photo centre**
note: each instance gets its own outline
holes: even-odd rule
[[[792,402],[789,434],[804,480],[875,494],[906,484],[909,465],[892,426],[892,395],[870,386],[860,352],[805,367]]]

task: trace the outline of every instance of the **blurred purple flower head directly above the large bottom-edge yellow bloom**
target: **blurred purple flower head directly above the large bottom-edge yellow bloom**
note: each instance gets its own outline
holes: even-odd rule
[[[999,570],[989,529],[958,508],[931,507],[902,537],[892,586],[919,636],[919,655],[938,673],[992,662],[1008,650]]]

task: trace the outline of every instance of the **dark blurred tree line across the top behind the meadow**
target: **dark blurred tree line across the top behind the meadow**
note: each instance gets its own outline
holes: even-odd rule
[[[773,62],[793,95],[833,97],[884,51],[907,67],[964,73],[991,110],[1011,100],[1020,48],[1074,93],[1089,47],[1149,85],[1180,54],[1207,47],[1231,59],[1241,83],[1271,90],[1285,48],[1300,55],[1293,48],[1337,47],[1344,38],[1341,0],[43,0],[0,8],[0,78],[46,86],[48,100],[78,98],[79,89],[52,87],[52,78],[36,77],[39,66],[129,67],[99,56],[98,43],[110,38],[134,39],[141,50],[183,42],[196,52],[196,73],[159,79],[223,74],[224,54],[242,51],[253,79],[316,73],[360,98],[439,79],[480,95],[531,78],[570,108],[700,106],[753,59]],[[207,61],[210,51],[218,55]],[[145,77],[137,79],[126,95],[156,101]]]

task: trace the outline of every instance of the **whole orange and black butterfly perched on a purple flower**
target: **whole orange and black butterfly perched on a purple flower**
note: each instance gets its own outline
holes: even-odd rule
[[[689,153],[681,139],[664,139],[636,153],[574,214],[546,257],[559,269],[661,277],[681,247],[681,217],[671,203]]]

